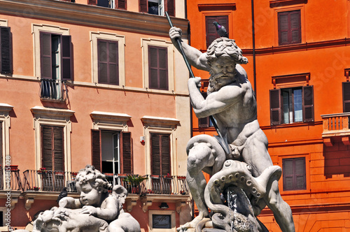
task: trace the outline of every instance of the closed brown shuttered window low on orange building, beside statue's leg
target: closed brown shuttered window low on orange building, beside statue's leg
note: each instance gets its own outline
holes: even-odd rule
[[[305,158],[283,159],[283,191],[306,189]]]

